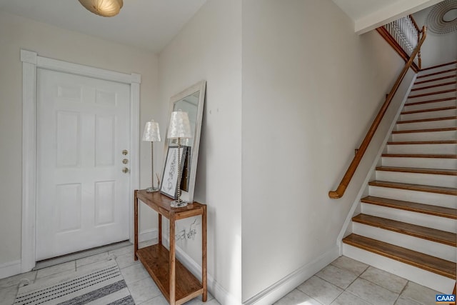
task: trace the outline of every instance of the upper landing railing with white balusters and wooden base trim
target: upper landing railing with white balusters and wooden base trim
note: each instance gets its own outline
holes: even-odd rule
[[[421,40],[421,29],[419,29],[412,15],[404,16],[385,26],[378,27],[376,31],[386,39],[405,62],[411,57]],[[417,56],[414,56],[412,69],[417,72],[421,69],[421,65],[421,50],[419,50]]]

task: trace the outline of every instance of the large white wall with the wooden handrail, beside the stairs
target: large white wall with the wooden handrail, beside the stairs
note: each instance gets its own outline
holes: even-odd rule
[[[243,1],[243,302],[330,262],[372,161],[342,199],[328,191],[402,66],[332,1]]]

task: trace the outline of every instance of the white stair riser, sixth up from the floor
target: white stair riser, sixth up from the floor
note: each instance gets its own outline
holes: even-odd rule
[[[383,157],[382,165],[419,169],[457,169],[457,159]]]

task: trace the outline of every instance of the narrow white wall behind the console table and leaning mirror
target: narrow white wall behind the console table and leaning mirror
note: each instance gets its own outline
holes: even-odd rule
[[[208,205],[209,289],[222,304],[240,304],[241,0],[207,1],[159,55],[161,126],[170,97],[201,79],[206,104],[194,200]],[[180,221],[177,231],[192,221]],[[201,231],[177,246],[200,263],[200,243]]]

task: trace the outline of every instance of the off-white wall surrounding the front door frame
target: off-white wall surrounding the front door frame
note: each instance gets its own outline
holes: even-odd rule
[[[76,64],[141,74],[141,129],[158,103],[158,57],[155,54],[0,11],[0,266],[21,259],[20,49]],[[145,188],[151,181],[151,149],[148,143],[140,145],[140,186]],[[140,231],[156,228],[156,217],[149,209],[144,210]]]

